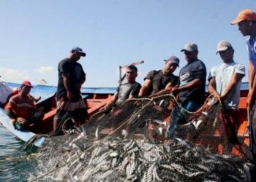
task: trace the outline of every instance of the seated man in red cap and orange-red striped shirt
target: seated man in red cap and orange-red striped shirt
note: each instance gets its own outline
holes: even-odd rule
[[[36,108],[34,99],[31,98],[29,92],[32,85],[29,81],[24,81],[18,94],[13,95],[4,109],[12,118],[12,124],[17,130],[29,130],[31,127],[42,120],[44,113],[43,108]]]

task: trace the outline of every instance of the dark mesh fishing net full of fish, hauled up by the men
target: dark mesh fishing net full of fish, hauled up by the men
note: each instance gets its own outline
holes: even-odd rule
[[[173,95],[134,99],[91,116],[73,135],[47,138],[37,154],[38,179],[49,181],[251,181],[247,136],[210,99],[195,113]],[[167,138],[170,112],[186,122]]]

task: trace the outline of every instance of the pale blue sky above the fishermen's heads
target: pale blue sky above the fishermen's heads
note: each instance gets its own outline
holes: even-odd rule
[[[230,41],[234,60],[247,71],[247,37],[230,25],[247,8],[256,11],[255,0],[1,0],[0,80],[56,85],[59,61],[81,47],[87,54],[79,60],[83,87],[117,87],[119,66],[140,60],[137,81],[143,84],[171,55],[180,68],[186,65],[181,49],[187,42],[197,44],[209,72],[222,63],[216,55],[221,40]]]

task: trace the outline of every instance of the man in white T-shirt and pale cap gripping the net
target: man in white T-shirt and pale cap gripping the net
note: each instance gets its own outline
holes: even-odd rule
[[[238,105],[241,80],[245,76],[245,66],[233,60],[234,49],[230,42],[219,41],[217,53],[223,63],[214,66],[208,76],[208,92],[217,95],[225,107],[222,119],[225,123],[230,143],[238,144]]]

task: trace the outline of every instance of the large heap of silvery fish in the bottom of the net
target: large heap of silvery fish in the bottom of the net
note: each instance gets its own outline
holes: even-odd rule
[[[251,181],[252,167],[180,138],[89,140],[84,131],[47,139],[37,159],[39,173],[51,171],[49,181]]]

